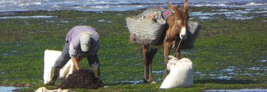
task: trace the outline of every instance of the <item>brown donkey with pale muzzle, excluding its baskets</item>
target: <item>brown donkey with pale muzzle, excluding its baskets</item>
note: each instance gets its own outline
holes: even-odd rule
[[[168,63],[168,55],[170,54],[171,48],[177,48],[180,40],[187,38],[187,28],[189,20],[189,3],[188,0],[185,0],[184,6],[173,6],[170,3],[168,8],[170,8],[173,13],[166,19],[166,28],[159,40],[157,45],[142,45],[141,49],[144,55],[144,76],[143,81],[147,82],[147,79],[150,79],[151,84],[156,84],[154,78],[152,77],[152,60],[154,55],[157,53],[160,47],[164,47],[164,64],[165,70],[163,79],[168,75],[168,70],[166,65]],[[175,55],[180,59],[180,48],[178,47],[178,53]]]

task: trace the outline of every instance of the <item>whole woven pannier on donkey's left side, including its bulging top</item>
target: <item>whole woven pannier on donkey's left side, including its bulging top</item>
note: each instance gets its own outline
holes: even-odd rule
[[[166,22],[161,17],[164,8],[150,8],[140,15],[127,17],[130,40],[137,45],[154,45],[165,29]]]

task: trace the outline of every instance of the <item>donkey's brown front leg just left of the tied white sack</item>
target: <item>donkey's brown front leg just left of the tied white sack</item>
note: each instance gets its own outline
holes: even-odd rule
[[[164,42],[164,66],[165,66],[165,70],[164,70],[163,80],[168,75],[167,63],[168,63],[168,55],[170,54],[170,49],[171,49],[171,43]]]

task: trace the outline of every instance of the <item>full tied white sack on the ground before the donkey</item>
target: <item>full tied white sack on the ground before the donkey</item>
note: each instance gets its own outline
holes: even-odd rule
[[[174,56],[168,61],[167,69],[170,73],[162,82],[160,89],[193,86],[193,63],[187,58],[178,60]]]

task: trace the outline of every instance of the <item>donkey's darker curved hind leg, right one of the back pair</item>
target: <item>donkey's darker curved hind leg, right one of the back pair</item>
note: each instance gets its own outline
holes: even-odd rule
[[[153,61],[153,58],[154,58],[154,55],[157,53],[157,50],[158,49],[155,49],[155,48],[151,48],[150,49],[150,52],[148,54],[148,66],[149,66],[149,79],[150,79],[150,82],[151,84],[157,84],[157,82],[154,81],[154,78],[152,76],[152,61]]]

